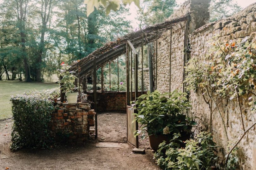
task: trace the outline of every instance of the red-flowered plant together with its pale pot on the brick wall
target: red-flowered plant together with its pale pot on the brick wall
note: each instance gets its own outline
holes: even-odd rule
[[[70,65],[65,64],[64,62],[61,63],[61,69],[59,69],[59,85],[63,93],[66,93],[67,100],[69,104],[75,104],[77,102],[77,95],[78,92],[75,92],[74,90],[77,90],[81,87],[75,86],[75,80],[77,77],[74,75],[74,71],[69,71]]]

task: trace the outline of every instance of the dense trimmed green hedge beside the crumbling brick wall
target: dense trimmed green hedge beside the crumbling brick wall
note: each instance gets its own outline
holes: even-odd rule
[[[54,143],[48,129],[51,112],[54,110],[49,99],[58,94],[57,90],[58,88],[30,91],[11,96],[14,120],[11,133],[12,150],[23,147],[44,149]]]

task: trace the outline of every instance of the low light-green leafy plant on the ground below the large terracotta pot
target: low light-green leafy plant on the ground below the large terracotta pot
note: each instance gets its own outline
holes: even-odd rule
[[[195,139],[186,140],[186,147],[180,148],[180,134],[174,134],[173,139],[159,145],[154,154],[157,164],[165,170],[174,169],[212,169],[216,166],[216,144],[210,133],[201,132]]]

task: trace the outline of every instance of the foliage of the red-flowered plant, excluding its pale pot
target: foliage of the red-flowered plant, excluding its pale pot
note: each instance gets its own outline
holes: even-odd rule
[[[82,89],[82,87],[75,86],[75,80],[77,77],[74,75],[74,71],[69,71],[70,65],[61,63],[61,69],[58,69],[60,77],[59,85],[63,93],[73,92],[74,90]]]

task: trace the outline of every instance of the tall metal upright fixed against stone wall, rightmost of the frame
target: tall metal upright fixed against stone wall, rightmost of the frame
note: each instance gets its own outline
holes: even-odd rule
[[[189,15],[187,16],[187,20],[186,20],[186,28],[184,31],[184,58],[183,58],[183,92],[186,92],[186,82],[185,78],[186,78],[186,72],[185,72],[185,66],[187,64],[187,60],[188,60],[188,55],[187,55],[187,41],[188,41],[188,27],[189,27]]]

